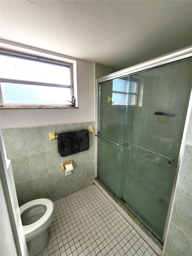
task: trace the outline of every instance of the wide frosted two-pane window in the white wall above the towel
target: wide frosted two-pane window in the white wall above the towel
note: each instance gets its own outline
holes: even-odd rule
[[[1,51],[1,107],[75,107],[72,65]]]

